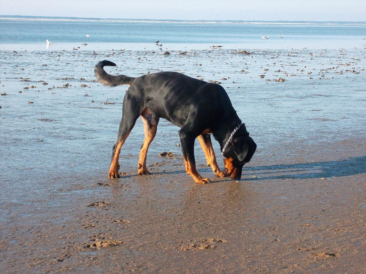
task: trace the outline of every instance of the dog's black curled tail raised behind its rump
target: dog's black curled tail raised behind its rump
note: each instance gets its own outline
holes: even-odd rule
[[[126,75],[110,75],[104,71],[104,66],[116,66],[116,64],[108,60],[103,60],[95,66],[95,76],[103,85],[109,85],[111,87],[116,87],[117,85],[130,85],[132,80],[135,79],[134,77]]]

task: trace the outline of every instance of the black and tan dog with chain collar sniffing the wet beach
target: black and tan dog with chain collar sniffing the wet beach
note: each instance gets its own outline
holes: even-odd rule
[[[141,146],[138,174],[149,174],[146,167],[147,149],[155,137],[159,118],[179,126],[183,159],[187,174],[196,183],[209,183],[196,170],[194,141],[198,140],[207,163],[219,177],[230,176],[238,180],[243,165],[250,161],[257,145],[242,124],[230,99],[221,85],[207,83],[178,72],[158,72],[140,77],[109,75],[104,66],[116,66],[104,60],[95,68],[98,80],[108,86],[129,85],[123,100],[122,120],[117,142],[113,146],[110,178],[119,178],[118,157],[136,120],[141,116],[145,140]],[[210,133],[219,141],[224,159],[225,172],[217,165]]]

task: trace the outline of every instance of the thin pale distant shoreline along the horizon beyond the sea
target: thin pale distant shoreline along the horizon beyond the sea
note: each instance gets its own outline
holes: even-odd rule
[[[0,20],[29,21],[71,21],[71,22],[131,22],[131,23],[186,23],[186,24],[326,24],[326,25],[366,25],[366,22],[344,21],[244,21],[244,20],[173,20],[173,19],[124,19],[124,18],[82,18],[58,16],[0,15]]]

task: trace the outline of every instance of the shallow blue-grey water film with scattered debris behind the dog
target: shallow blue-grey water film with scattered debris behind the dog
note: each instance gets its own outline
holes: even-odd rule
[[[208,47],[170,56],[161,50],[1,51],[1,93],[7,94],[0,98],[1,182],[22,182],[24,188],[59,173],[107,171],[128,87],[96,82],[93,67],[104,59],[117,64],[106,68],[112,74],[178,71],[220,81],[258,144],[253,162],[279,143],[342,140],[364,132],[364,49],[235,51]],[[286,80],[273,81],[280,77]],[[63,87],[67,83],[70,87]],[[107,100],[115,104],[103,104]],[[148,163],[161,151],[181,153],[178,130],[160,121]],[[135,167],[142,141],[139,119],[123,146],[120,171]],[[217,142],[214,148],[219,153]],[[196,159],[203,163],[198,151]]]

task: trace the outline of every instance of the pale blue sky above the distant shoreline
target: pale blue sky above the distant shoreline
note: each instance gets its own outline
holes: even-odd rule
[[[366,21],[366,0],[0,0],[1,15],[186,20]]]

